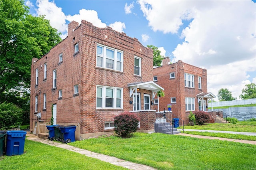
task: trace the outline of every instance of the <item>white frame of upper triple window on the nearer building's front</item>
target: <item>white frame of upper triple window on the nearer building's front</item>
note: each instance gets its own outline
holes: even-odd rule
[[[98,53],[98,47],[101,47],[102,48],[102,53]],[[108,50],[111,50],[113,51],[114,53],[114,58],[111,59],[111,58],[108,58],[107,55],[106,55],[106,51]],[[118,49],[114,49],[114,48],[111,48],[111,47],[108,47],[108,46],[105,46],[105,45],[101,45],[101,44],[97,44],[97,48],[96,48],[97,52],[96,52],[96,67],[102,67],[102,68],[105,68],[105,69],[110,69],[110,70],[115,70],[115,71],[121,71],[123,72],[123,55],[124,55],[124,52],[121,51],[121,50],[118,50]],[[121,54],[121,59],[119,60],[118,59],[118,54]],[[98,58],[101,58],[101,65],[99,65],[98,63]],[[113,61],[113,68],[108,68],[106,66],[106,59],[110,59]],[[118,63],[120,63],[120,69],[117,68],[117,65]]]

